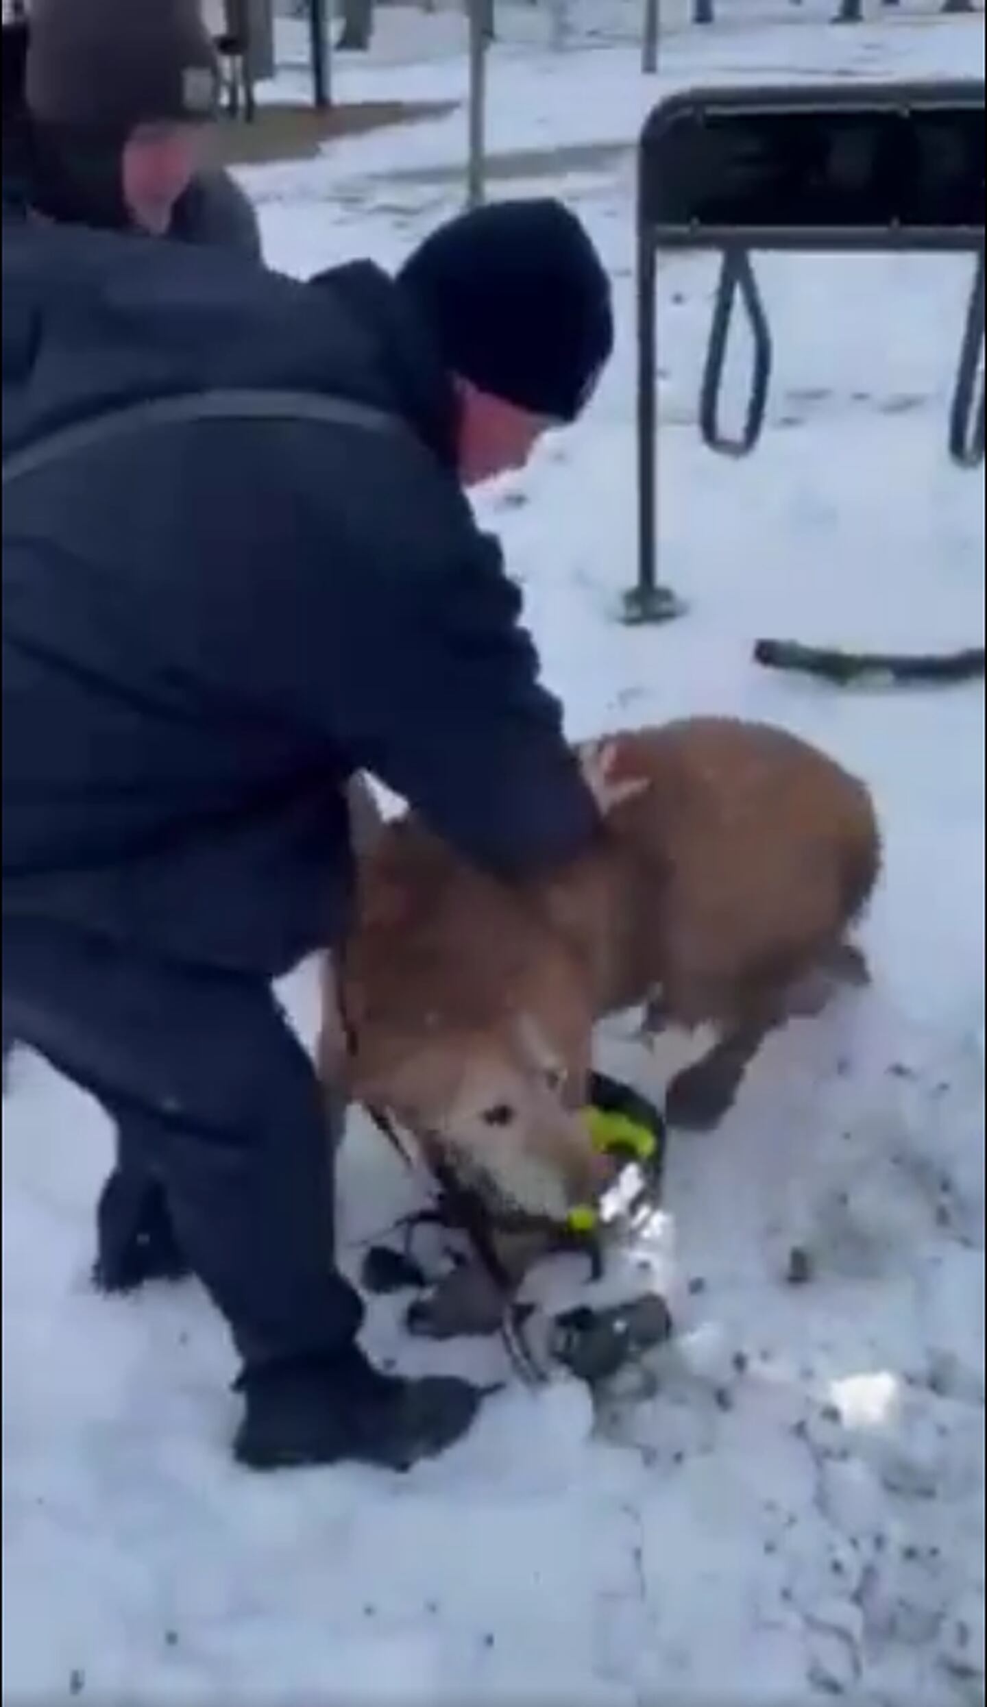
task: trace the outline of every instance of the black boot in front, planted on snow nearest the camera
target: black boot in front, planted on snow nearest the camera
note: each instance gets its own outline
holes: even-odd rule
[[[335,1362],[248,1369],[237,1389],[246,1412],[234,1456],[251,1470],[345,1461],[410,1470],[459,1441],[485,1398],[454,1376],[386,1376],[357,1347]]]

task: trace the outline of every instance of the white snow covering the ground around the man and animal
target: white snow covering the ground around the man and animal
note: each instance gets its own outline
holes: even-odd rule
[[[859,770],[886,872],[874,988],[765,1050],[724,1127],[671,1154],[642,1248],[681,1338],[657,1391],[596,1420],[517,1388],[403,1480],[237,1471],[232,1362],[195,1285],[87,1289],[99,1111],[22,1058],[3,1108],[3,1698],[984,1700],[984,693],[840,693],[760,673],[760,633],[963,645],[984,633],[984,481],[946,459],[968,265],[758,266],[779,341],[756,457],[695,432],[712,266],[661,275],[664,630],[613,620],[634,575],[632,154],[656,87],[709,77],[973,73],[982,20],[763,24],[494,58],[500,155],[545,150],[613,266],[620,350],[589,420],[482,500],[574,736],[692,710],[784,722]],[[340,92],[458,92],[383,43]],[[574,143],[613,145],[581,155]],[[258,169],[275,263],[384,263],[461,193],[463,119]],[[524,162],[523,162],[524,164]],[[517,162],[516,162],[517,166]],[[511,166],[502,172],[509,172]],[[536,176],[533,176],[536,174]],[[500,188],[495,184],[495,189]],[[289,992],[312,1022],[307,973]],[[659,1091],[616,1028],[601,1062]],[[347,1261],[406,1200],[359,1118]],[[816,1279],[784,1284],[794,1239]],[[502,1374],[494,1345],[405,1366]]]

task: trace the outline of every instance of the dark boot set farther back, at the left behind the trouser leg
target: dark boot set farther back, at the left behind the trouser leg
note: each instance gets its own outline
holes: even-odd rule
[[[159,1181],[114,1168],[96,1210],[92,1284],[101,1292],[133,1292],[147,1280],[184,1280],[190,1273]]]

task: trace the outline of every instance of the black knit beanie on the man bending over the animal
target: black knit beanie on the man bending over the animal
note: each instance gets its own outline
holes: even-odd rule
[[[560,201],[461,213],[415,249],[398,283],[449,372],[531,415],[575,420],[610,360],[610,280]]]

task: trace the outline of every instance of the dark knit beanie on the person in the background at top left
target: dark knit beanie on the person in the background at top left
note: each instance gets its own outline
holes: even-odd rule
[[[32,0],[24,94],[39,125],[82,135],[212,118],[219,61],[200,0]]]

